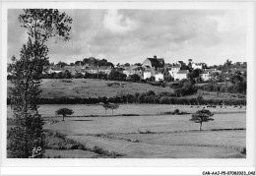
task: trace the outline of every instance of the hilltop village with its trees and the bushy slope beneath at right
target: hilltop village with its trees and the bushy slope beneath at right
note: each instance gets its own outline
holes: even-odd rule
[[[246,67],[246,62],[232,63],[228,60],[224,65],[219,66],[207,66],[206,63],[196,63],[192,59],[170,64],[156,55],[133,65],[129,63],[113,65],[105,59],[91,57],[69,65],[61,61],[57,64],[48,62],[43,66],[39,77],[40,79],[84,78],[130,81],[161,87],[179,85],[183,95],[199,92],[196,90],[198,88],[204,91],[246,94]],[[11,77],[12,69],[9,64],[7,80]],[[184,85],[185,83],[189,86]],[[202,88],[201,83],[207,85]],[[186,90],[189,92],[184,93]],[[180,94],[179,89],[176,92]]]

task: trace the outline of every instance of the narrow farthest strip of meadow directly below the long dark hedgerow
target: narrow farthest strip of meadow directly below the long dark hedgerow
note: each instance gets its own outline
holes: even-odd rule
[[[74,114],[72,116],[102,116],[105,115],[105,110],[100,105],[89,105],[89,104],[41,104],[39,105],[39,113],[42,117],[53,117],[55,116],[55,111],[59,108],[67,107],[74,110]],[[114,110],[114,114],[149,114],[149,115],[156,115],[160,114],[161,112],[168,112],[173,111],[174,109],[179,109],[180,111],[194,113],[197,110],[201,109],[197,108],[197,106],[193,106],[190,108],[191,105],[169,105],[169,104],[120,104],[119,108]],[[208,108],[212,112],[215,113],[240,113],[245,112],[245,107],[233,108],[233,106],[227,106],[226,108]],[[111,115],[112,111],[107,110],[106,115]],[[11,106],[7,107],[7,117],[12,118],[12,110]]]

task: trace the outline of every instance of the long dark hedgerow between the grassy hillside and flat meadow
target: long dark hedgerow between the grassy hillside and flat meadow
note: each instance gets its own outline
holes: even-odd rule
[[[149,94],[135,93],[113,97],[88,97],[88,98],[40,98],[39,104],[97,104],[97,103],[149,103],[149,104],[183,104],[183,105],[246,105],[246,98],[203,98],[173,97],[170,93]],[[8,98],[7,103],[10,103]]]

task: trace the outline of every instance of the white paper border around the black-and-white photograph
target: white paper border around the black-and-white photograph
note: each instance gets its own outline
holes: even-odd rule
[[[1,7],[1,114],[2,117],[7,117],[6,99],[7,99],[7,81],[6,81],[6,65],[7,65],[7,11],[8,9],[23,9],[23,8],[58,8],[58,9],[243,9],[247,11],[248,28],[247,28],[247,77],[248,77],[248,94],[247,94],[247,114],[246,114],[246,149],[247,158],[245,159],[13,159],[6,158],[6,118],[0,118],[1,121],[1,166],[4,169],[3,173],[21,173],[25,167],[30,168],[30,174],[52,174],[47,169],[41,167],[62,167],[62,172],[58,174],[74,174],[69,172],[67,167],[86,166],[85,169],[90,174],[105,174],[117,173],[120,174],[138,174],[140,167],[143,169],[143,174],[159,175],[164,173],[169,174],[174,171],[175,174],[187,173],[187,169],[194,172],[200,167],[221,167],[219,170],[255,170],[255,2],[2,2]],[[251,98],[248,98],[251,97]],[[15,169],[13,168],[15,166]],[[101,167],[97,169],[95,167]],[[181,167],[182,166],[182,167]],[[184,170],[183,167],[186,167]],[[19,168],[18,168],[19,167]],[[40,167],[40,168],[37,168]],[[63,168],[66,167],[66,168]],[[113,172],[113,168],[117,167]],[[132,169],[129,167],[133,167]],[[136,168],[135,168],[136,167]],[[159,167],[158,171],[150,167]],[[175,168],[173,168],[175,167]],[[51,168],[54,170],[56,168]],[[135,169],[135,170],[133,170]],[[208,168],[209,169],[209,168]],[[83,171],[84,168],[79,167],[76,170]],[[206,169],[207,170],[207,169]],[[249,171],[248,170],[248,171]],[[15,172],[13,172],[15,171]],[[185,171],[185,172],[184,172]],[[81,172],[80,172],[81,173]],[[82,172],[83,173],[83,172]],[[195,173],[195,172],[194,172]],[[27,172],[28,174],[28,172]],[[198,174],[198,172],[197,172]],[[202,174],[201,172],[199,174]]]

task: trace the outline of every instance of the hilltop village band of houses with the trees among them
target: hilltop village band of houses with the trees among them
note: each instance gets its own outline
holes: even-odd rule
[[[109,64],[107,62],[107,64],[105,64],[107,66],[97,66],[94,63],[83,64],[82,61],[77,61],[75,64],[70,65],[62,65],[60,63],[61,62],[59,62],[59,64],[44,65],[42,75],[70,74],[71,77],[77,76],[84,78],[86,74],[104,74],[108,76],[111,71],[117,71],[120,74],[124,74],[126,79],[132,75],[138,75],[141,80],[172,82],[188,79],[190,73],[197,71],[199,73],[199,76],[196,78],[197,82],[208,82],[213,77],[218,79],[218,76],[224,72],[222,65],[208,67],[205,63],[195,63],[192,59],[188,59],[187,63],[178,61],[169,64],[164,62],[164,58],[158,58],[156,55],[151,58],[146,58],[142,63],[134,65],[126,63],[124,65],[117,64],[114,66],[112,63]],[[232,64],[232,67],[225,70],[225,73],[235,71],[239,71],[243,74],[246,71],[246,62],[236,62]],[[11,73],[9,72],[8,74],[10,75]]]

